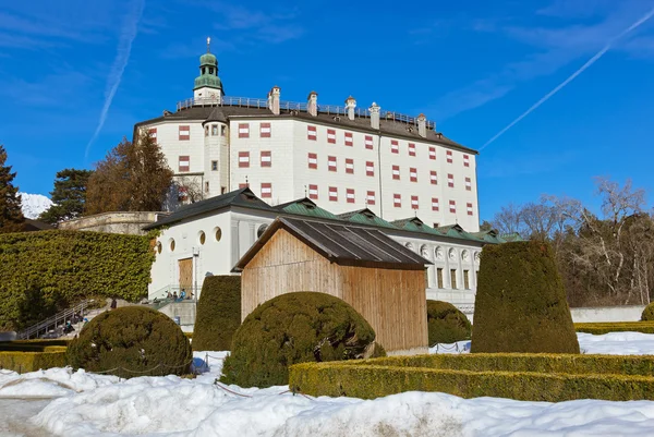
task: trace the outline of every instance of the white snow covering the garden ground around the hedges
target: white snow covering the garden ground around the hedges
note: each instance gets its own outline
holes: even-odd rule
[[[579,340],[586,353],[654,354],[654,335],[580,333]],[[640,437],[654,429],[651,401],[547,403],[426,392],[364,401],[293,396],[288,387],[223,389],[214,380],[225,352],[194,355],[205,369],[209,355],[210,366],[196,379],[2,372],[0,435]],[[36,400],[43,397],[53,399]]]

